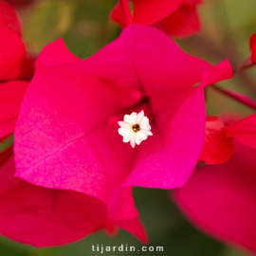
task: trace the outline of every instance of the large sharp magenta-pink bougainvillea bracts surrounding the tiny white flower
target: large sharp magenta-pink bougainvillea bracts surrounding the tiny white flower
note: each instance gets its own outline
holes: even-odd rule
[[[53,42],[37,59],[20,109],[16,175],[97,197],[113,221],[135,218],[133,186],[173,189],[192,174],[205,138],[203,89],[231,76],[228,61],[192,57],[153,27],[126,27],[86,60]],[[154,136],[132,148],[118,121],[141,110]]]

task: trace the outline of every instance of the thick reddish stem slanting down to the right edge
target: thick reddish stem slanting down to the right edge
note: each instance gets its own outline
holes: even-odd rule
[[[239,93],[231,91],[231,90],[222,89],[216,84],[212,84],[210,87],[213,88],[214,90],[228,96],[229,98],[231,98],[235,101],[238,101],[256,111],[256,102],[252,101],[251,99],[247,98],[246,96],[240,95]]]

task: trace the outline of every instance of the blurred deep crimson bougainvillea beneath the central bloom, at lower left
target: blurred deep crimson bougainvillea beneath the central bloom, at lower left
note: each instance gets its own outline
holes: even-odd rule
[[[46,189],[14,177],[12,149],[0,154],[0,233],[35,247],[52,247],[82,239],[100,230],[115,230],[106,218],[106,206],[79,192]],[[142,241],[143,227],[137,219],[119,221]]]

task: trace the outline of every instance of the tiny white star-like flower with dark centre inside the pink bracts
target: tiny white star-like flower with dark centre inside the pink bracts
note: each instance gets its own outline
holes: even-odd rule
[[[138,114],[133,112],[131,115],[125,115],[123,121],[119,121],[119,135],[122,136],[123,142],[131,143],[134,148],[141,143],[142,140],[148,138],[148,136],[153,136],[150,131],[151,126],[149,124],[149,119],[144,116],[144,111],[141,110]]]

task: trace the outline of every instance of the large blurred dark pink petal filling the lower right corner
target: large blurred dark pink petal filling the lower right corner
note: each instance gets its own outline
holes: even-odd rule
[[[236,141],[229,162],[198,168],[174,201],[198,227],[256,253],[256,150]]]

